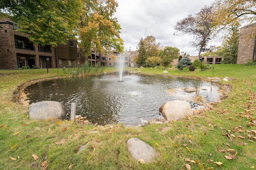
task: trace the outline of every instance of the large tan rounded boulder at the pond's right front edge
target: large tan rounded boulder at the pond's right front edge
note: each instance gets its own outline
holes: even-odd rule
[[[183,117],[193,115],[189,103],[180,100],[167,101],[159,108],[159,111],[168,121],[179,120]]]

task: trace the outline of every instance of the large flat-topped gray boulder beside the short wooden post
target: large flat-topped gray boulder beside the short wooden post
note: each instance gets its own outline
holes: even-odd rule
[[[32,103],[29,106],[30,119],[64,119],[66,117],[66,114],[66,107],[64,107],[64,105],[57,101],[40,101],[37,103]]]

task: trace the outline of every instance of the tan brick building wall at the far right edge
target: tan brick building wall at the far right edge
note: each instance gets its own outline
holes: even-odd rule
[[[237,64],[256,61],[256,23],[240,28]]]

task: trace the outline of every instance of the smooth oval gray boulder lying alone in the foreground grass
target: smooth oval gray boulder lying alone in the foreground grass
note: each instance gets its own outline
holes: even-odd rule
[[[128,152],[136,160],[143,159],[146,163],[154,160],[155,150],[147,143],[138,138],[130,138],[127,141]]]

